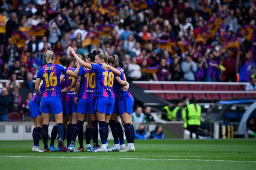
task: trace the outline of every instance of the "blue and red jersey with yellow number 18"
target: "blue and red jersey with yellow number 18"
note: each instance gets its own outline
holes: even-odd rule
[[[91,64],[95,71],[96,87],[94,97],[108,97],[115,99],[113,90],[114,73],[102,64]]]

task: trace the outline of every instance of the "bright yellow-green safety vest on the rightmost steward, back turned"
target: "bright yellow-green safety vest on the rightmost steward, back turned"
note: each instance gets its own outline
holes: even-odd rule
[[[188,125],[201,125],[201,106],[196,104],[195,109],[195,104],[188,104],[187,105],[187,124]]]

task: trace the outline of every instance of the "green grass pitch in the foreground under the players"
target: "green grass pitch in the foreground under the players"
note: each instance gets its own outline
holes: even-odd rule
[[[113,141],[108,142],[109,146],[112,144]],[[33,141],[0,141],[0,146],[1,170],[251,170],[256,167],[255,139],[135,140],[136,151],[126,153],[33,153]],[[40,147],[43,148],[41,140]]]

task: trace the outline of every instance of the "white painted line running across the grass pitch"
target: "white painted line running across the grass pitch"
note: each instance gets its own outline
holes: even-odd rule
[[[26,157],[26,158],[72,158],[72,159],[113,159],[115,157],[65,157],[65,156],[11,156],[0,155],[0,157]],[[256,161],[234,161],[234,160],[214,160],[214,159],[152,159],[152,158],[128,158],[120,157],[118,159],[131,159],[131,160],[161,160],[161,161],[215,161],[215,162],[239,162],[239,163],[256,163]]]

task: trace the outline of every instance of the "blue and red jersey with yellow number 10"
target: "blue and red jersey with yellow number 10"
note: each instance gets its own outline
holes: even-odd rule
[[[93,99],[95,91],[95,72],[89,68],[79,70],[79,76],[82,77],[80,82],[79,94],[77,95],[80,99]]]

